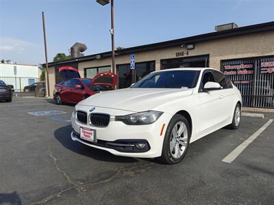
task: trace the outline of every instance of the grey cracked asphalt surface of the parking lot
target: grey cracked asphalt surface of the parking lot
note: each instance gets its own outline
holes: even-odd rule
[[[274,123],[222,161],[273,114],[242,118],[236,131],[191,143],[182,163],[162,165],[72,141],[73,109],[45,98],[0,102],[0,204],[274,204]]]

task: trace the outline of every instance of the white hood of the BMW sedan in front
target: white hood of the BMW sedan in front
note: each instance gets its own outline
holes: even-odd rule
[[[78,103],[127,111],[147,111],[192,94],[192,89],[127,88],[99,93]]]

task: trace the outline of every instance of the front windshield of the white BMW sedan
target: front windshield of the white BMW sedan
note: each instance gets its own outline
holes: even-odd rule
[[[171,70],[164,72],[153,72],[132,85],[132,87],[193,88],[197,85],[199,74],[199,70]]]

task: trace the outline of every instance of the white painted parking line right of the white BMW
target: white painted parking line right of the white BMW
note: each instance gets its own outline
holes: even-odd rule
[[[239,156],[240,153],[242,153],[242,151],[245,150],[245,148],[247,148],[247,146],[249,146],[249,144],[254,139],[256,139],[272,122],[273,122],[272,119],[269,120],[268,122],[266,122],[266,124],[264,124],[260,129],[258,129],[258,131],[256,131],[256,133],[251,135],[247,140],[242,142],[235,150],[233,150],[232,152],[230,152],[230,154],[225,156],[225,158],[222,161],[225,163],[232,163],[234,161],[234,159],[236,159],[237,156]]]

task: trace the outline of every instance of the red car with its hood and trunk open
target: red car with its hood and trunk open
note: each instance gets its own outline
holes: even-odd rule
[[[113,90],[117,83],[117,76],[112,72],[101,72],[93,79],[82,79],[76,68],[64,66],[59,68],[64,81],[55,85],[53,98],[56,104],[63,102],[77,104],[99,92]]]

